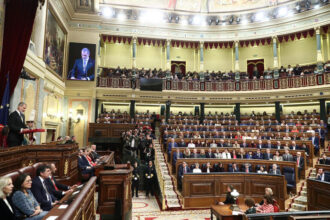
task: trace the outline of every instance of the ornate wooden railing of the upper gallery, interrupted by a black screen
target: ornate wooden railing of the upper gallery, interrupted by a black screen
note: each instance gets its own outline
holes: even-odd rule
[[[139,79],[98,77],[97,87],[140,89]],[[305,76],[283,77],[278,79],[240,81],[194,81],[163,79],[163,90],[177,91],[252,91],[301,88],[330,84],[330,73]]]

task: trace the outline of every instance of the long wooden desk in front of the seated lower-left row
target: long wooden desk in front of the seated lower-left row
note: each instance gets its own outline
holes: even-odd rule
[[[96,177],[92,177],[82,189],[74,200],[65,209],[59,209],[61,204],[55,205],[48,214],[43,218],[46,220],[49,216],[57,216],[59,220],[71,220],[71,219],[95,219],[95,189],[96,189]],[[64,203],[69,199],[72,193],[65,195],[60,203]]]

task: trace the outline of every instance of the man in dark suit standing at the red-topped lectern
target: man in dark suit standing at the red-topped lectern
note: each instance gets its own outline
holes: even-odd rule
[[[8,146],[20,146],[23,143],[24,135],[21,134],[22,131],[26,131],[27,126],[25,124],[26,103],[20,102],[17,106],[17,110],[12,112],[8,117]]]

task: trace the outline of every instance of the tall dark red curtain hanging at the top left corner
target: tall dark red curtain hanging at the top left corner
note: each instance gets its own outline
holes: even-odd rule
[[[0,97],[3,97],[6,74],[10,73],[10,94],[15,89],[29,46],[39,0],[6,2],[3,49],[0,70]]]

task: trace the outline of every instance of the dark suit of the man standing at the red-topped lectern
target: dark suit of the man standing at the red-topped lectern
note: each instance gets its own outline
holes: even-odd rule
[[[21,129],[27,128],[25,125],[25,116],[23,115],[22,121],[21,116],[17,111],[12,112],[8,118],[8,127],[9,134],[7,140],[9,147],[22,145],[24,135],[21,134]]]

